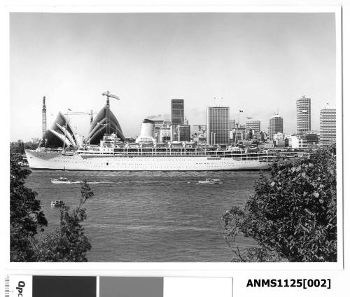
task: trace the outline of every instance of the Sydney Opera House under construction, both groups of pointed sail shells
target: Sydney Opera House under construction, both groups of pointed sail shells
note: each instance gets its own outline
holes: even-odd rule
[[[86,141],[90,144],[99,144],[104,134],[111,133],[116,133],[122,141],[125,141],[122,128],[109,108],[109,100],[107,100],[106,106],[92,120]],[[61,112],[58,113],[50,129],[43,133],[43,142],[46,147],[55,148],[62,146],[77,148],[82,144],[80,135],[73,130],[69,120]]]

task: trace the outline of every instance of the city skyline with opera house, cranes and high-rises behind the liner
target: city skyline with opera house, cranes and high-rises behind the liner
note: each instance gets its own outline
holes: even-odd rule
[[[109,92],[106,92],[107,94],[111,94]],[[114,95],[111,95],[111,97],[116,97]],[[118,97],[117,97],[118,99]],[[281,117],[278,114],[275,114],[274,116],[271,116],[269,118],[269,127],[266,130],[260,129],[260,120],[253,120],[251,117],[247,117],[246,124],[239,124],[237,120],[237,125],[235,124],[235,120],[230,120],[229,114],[230,114],[230,107],[228,106],[210,106],[207,108],[207,125],[203,127],[204,130],[200,129],[202,127],[201,125],[193,125],[193,128],[195,128],[192,132],[190,131],[190,125],[188,125],[188,120],[186,120],[185,124],[181,124],[184,118],[184,100],[183,99],[172,99],[171,101],[172,106],[172,120],[167,121],[165,119],[162,120],[150,120],[150,119],[144,119],[141,123],[141,132],[136,138],[136,143],[139,143],[140,141],[153,141],[154,145],[155,143],[160,143],[164,141],[191,141],[192,137],[195,139],[196,137],[200,136],[202,139],[204,134],[203,132],[206,132],[207,137],[205,139],[205,142],[207,144],[229,144],[233,142],[235,143],[239,139],[244,140],[263,140],[265,137],[262,137],[262,135],[259,136],[260,132],[264,132],[264,134],[269,134],[269,141],[276,141],[276,139],[292,139],[292,144],[294,143],[294,146],[301,145],[306,146],[307,142],[304,140],[304,142],[297,142],[293,141],[293,137],[297,139],[307,139],[308,143],[316,144],[318,143],[319,139],[323,139],[323,144],[325,142],[332,142],[335,141],[335,109],[330,108],[330,106],[326,106],[325,109],[321,109],[321,117],[320,117],[320,130],[315,133],[315,130],[311,130],[310,128],[310,109],[311,109],[311,99],[302,97],[296,100],[296,106],[297,106],[297,133],[293,133],[291,135],[288,135],[286,133],[283,133],[283,117]],[[71,111],[69,109],[69,111]],[[109,112],[107,112],[109,111]],[[332,116],[328,118],[327,116],[323,117],[322,115],[326,114],[325,112],[328,111],[334,111],[332,113],[332,116],[334,115],[334,118]],[[243,113],[243,111],[239,111],[240,113]],[[305,115],[305,113],[307,113]],[[45,97],[43,98],[43,109],[42,109],[42,119],[43,119],[43,128],[46,125],[46,109],[45,109]],[[89,114],[92,116],[92,113]],[[47,144],[49,145],[57,145],[57,141],[65,142],[66,146],[74,146],[77,147],[80,144],[83,143],[85,135],[79,135],[75,134],[75,131],[71,128],[71,123],[69,121],[66,121],[66,116],[64,116],[61,112],[59,112],[55,123],[52,124],[50,129],[46,130],[43,129],[43,144],[45,146]],[[111,120],[111,125],[106,124],[107,121]],[[175,123],[175,122],[179,122]],[[123,132],[120,130],[120,125],[118,124],[118,120],[113,115],[113,112],[109,110],[109,99],[107,99],[106,106],[99,111],[97,116],[95,118],[90,118],[91,126],[90,126],[90,133],[87,137],[85,137],[85,140],[88,141],[90,144],[97,144],[94,143],[94,141],[97,142],[99,139],[102,139],[102,136],[106,134],[116,133],[116,137],[119,137],[122,141],[126,140],[123,136]],[[329,125],[331,123],[331,125]],[[69,129],[66,129],[66,128]],[[110,131],[106,129],[106,127],[110,127]],[[166,129],[168,132],[165,132]],[[237,129],[238,134],[240,135],[237,137]],[[196,131],[195,131],[196,130]],[[195,134],[199,132],[199,130],[202,130],[200,132],[200,135]],[[147,132],[146,132],[147,131]],[[170,134],[169,139],[163,139],[167,134]],[[243,134],[242,134],[243,133]],[[316,136],[318,134],[318,137]],[[321,135],[320,135],[321,134]],[[66,136],[64,136],[66,135]],[[95,137],[92,135],[96,135],[97,139],[94,139]],[[83,137],[82,137],[83,136]],[[291,137],[291,138],[290,138]],[[316,137],[316,138],[315,138]],[[63,141],[63,139],[66,138],[66,141]],[[129,138],[129,137],[128,137]],[[132,137],[133,138],[133,137]],[[129,138],[132,140],[132,138]],[[239,139],[237,139],[239,138]],[[325,141],[325,139],[328,139]],[[197,139],[199,140],[199,139]],[[195,141],[197,141],[195,140]],[[203,139],[202,139],[203,140]],[[294,139],[295,140],[295,139]],[[263,141],[262,141],[263,142]],[[280,144],[279,144],[280,145]]]

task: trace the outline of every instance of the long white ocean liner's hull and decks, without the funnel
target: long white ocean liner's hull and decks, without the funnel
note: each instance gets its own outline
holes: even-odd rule
[[[129,144],[120,141],[116,134],[104,135],[99,145],[85,144],[69,153],[46,148],[26,150],[25,153],[33,170],[267,170],[279,158],[274,151],[248,152],[235,146]]]

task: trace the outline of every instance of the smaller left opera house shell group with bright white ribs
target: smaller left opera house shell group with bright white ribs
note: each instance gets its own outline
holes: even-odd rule
[[[78,141],[71,124],[60,111],[51,128],[43,135],[43,141],[48,147],[62,147],[64,142],[66,147],[78,147]]]

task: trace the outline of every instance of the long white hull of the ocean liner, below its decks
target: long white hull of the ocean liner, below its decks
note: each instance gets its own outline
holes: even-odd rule
[[[267,170],[263,160],[237,160],[210,156],[82,156],[26,151],[29,167],[36,170],[97,171],[217,171]]]

